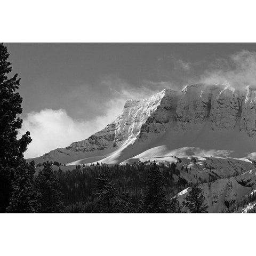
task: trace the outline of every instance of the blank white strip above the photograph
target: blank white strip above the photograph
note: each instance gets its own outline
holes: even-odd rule
[[[255,42],[255,1],[1,0],[4,42]]]

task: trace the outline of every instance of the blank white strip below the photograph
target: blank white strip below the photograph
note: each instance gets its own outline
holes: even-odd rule
[[[1,214],[0,224],[2,255],[244,255],[255,242],[254,214]]]

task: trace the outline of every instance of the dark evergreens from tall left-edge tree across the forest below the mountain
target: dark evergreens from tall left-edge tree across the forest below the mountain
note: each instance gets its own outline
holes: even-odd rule
[[[61,163],[44,162],[37,164],[44,167],[35,176],[35,163],[27,163],[23,156],[32,141],[30,132],[17,139],[22,125],[20,78],[8,77],[12,71],[8,58],[0,44],[0,212],[181,212],[173,196],[189,184],[174,163],[97,164],[54,172],[52,165]],[[192,205],[202,199],[200,193],[187,197],[183,205],[190,209],[190,201]]]

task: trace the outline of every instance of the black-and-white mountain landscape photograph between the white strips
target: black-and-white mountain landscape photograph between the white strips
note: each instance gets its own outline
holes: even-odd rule
[[[0,47],[1,212],[256,211],[256,43]]]

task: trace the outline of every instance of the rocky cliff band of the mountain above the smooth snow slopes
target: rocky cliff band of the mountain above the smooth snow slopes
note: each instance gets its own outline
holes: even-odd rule
[[[249,86],[239,91],[204,84],[186,86],[180,92],[165,89],[149,99],[127,100],[121,114],[105,129],[35,160],[59,159],[68,163],[103,155],[105,151],[110,154],[135,142],[139,145],[170,130],[199,131],[205,126],[212,131],[238,129],[253,138],[256,137],[255,105],[256,89]]]

